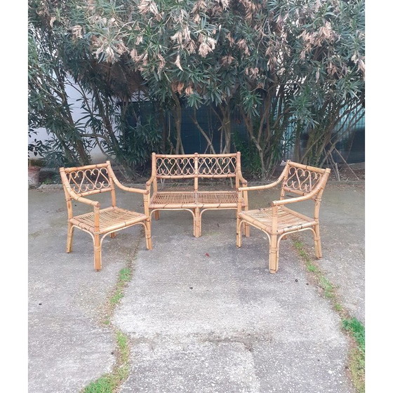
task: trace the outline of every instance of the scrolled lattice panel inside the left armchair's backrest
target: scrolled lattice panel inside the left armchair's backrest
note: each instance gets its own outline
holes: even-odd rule
[[[106,167],[76,169],[65,173],[71,189],[81,196],[107,192],[111,190]]]

